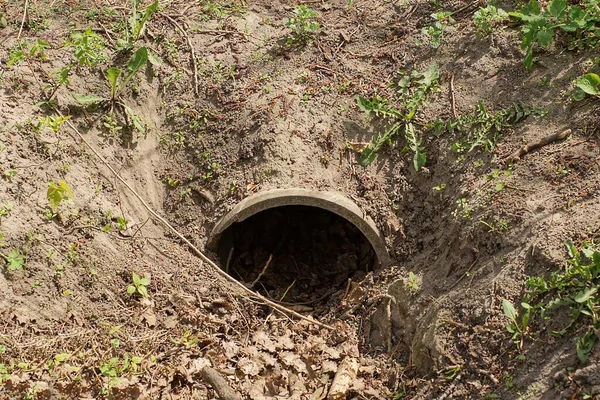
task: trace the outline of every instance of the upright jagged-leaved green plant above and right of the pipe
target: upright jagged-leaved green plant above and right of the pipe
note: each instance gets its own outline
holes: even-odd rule
[[[375,96],[367,99],[358,97],[358,107],[365,113],[374,114],[387,122],[387,128],[373,138],[371,143],[362,151],[359,163],[363,166],[370,165],[377,157],[377,152],[384,146],[391,144],[392,138],[400,132],[406,139],[405,149],[413,153],[413,166],[419,171],[427,160],[422,139],[419,136],[412,120],[427,96],[439,88],[439,68],[432,64],[426,71],[412,71],[406,74],[399,71],[400,79],[396,84],[395,100],[401,108],[396,108],[387,103],[387,100]]]

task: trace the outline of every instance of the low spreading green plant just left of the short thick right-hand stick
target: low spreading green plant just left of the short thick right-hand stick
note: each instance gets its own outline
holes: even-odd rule
[[[452,150],[459,154],[469,153],[476,149],[491,151],[501,139],[504,131],[529,115],[542,116],[545,111],[536,107],[519,104],[491,113],[485,103],[480,100],[473,115],[464,114],[456,119],[437,121],[434,128],[449,133],[458,132],[461,137],[452,145]]]

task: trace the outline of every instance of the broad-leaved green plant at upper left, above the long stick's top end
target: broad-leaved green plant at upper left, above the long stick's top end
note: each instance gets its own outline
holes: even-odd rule
[[[122,92],[131,81],[131,79],[140,71],[148,62],[148,49],[146,47],[140,47],[134,54],[127,68],[122,70],[119,67],[111,67],[106,71],[106,80],[109,84],[110,97],[100,97],[95,95],[82,95],[73,93],[73,98],[80,104],[88,105],[109,105],[109,120],[105,123],[109,124],[110,128],[118,131],[112,124],[115,123],[114,111],[115,109],[120,110],[129,120],[135,129],[139,132],[144,133],[146,126],[142,122],[141,118],[129,107],[122,99]],[[106,125],[105,125],[106,126]]]

